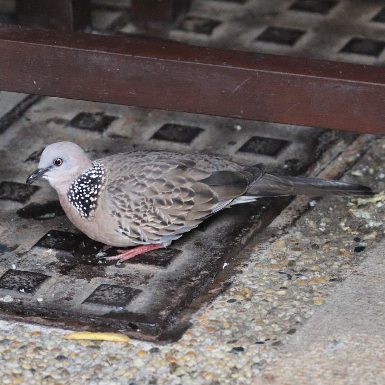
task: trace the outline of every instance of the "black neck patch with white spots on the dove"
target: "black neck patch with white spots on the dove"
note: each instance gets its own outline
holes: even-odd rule
[[[94,215],[104,185],[104,172],[101,162],[93,162],[93,167],[74,179],[70,185],[68,200],[83,218]]]

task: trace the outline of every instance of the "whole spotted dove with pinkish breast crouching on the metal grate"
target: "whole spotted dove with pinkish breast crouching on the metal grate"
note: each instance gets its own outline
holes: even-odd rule
[[[88,237],[138,246],[125,260],[166,247],[207,217],[238,203],[283,195],[372,195],[359,184],[268,173],[203,154],[132,151],[91,161],[81,147],[58,142],[43,151],[27,184],[43,177],[68,218]]]

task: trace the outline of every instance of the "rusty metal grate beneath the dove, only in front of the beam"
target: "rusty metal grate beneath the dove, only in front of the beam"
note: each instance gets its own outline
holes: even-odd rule
[[[95,107],[97,119],[90,112]],[[40,322],[66,320],[76,322],[71,324],[73,327],[126,330],[137,337],[158,340],[180,336],[188,326],[178,321],[181,310],[199,296],[250,236],[264,228],[289,199],[260,200],[225,210],[167,249],[116,265],[99,258],[103,245],[79,233],[63,216],[48,183],[41,181],[40,187],[34,189],[21,182],[36,168],[42,148],[67,139],[63,133],[71,130],[71,140],[86,148],[91,158],[136,147],[160,148],[210,152],[243,163],[264,162],[271,170],[297,173],[306,169],[317,151],[327,144],[327,135],[318,128],[307,127],[304,136],[302,127],[116,105],[95,106],[65,99],[46,98],[25,117],[12,126],[12,135],[0,144],[5,154],[0,180],[6,181],[0,184],[6,186],[0,214],[2,223],[10,224],[2,229],[6,242],[0,248],[0,298],[9,301],[0,301],[0,307],[42,317],[38,318]],[[103,119],[99,117],[113,119],[107,123],[105,120],[100,130],[95,129],[95,124],[101,127]],[[74,121],[82,123],[73,124]],[[16,153],[14,137],[19,139]],[[344,132],[337,137],[349,141],[354,135]],[[16,181],[9,181],[12,178]],[[18,245],[16,250],[14,245]],[[116,250],[106,253],[114,255]]]

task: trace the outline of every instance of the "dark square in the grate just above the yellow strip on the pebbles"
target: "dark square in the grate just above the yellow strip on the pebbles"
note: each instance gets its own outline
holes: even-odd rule
[[[126,306],[142,291],[118,285],[100,285],[83,303],[96,303],[109,306]]]

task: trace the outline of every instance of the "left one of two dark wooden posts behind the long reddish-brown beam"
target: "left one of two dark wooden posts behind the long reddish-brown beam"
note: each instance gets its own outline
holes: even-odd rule
[[[77,31],[91,25],[90,0],[16,0],[19,23],[56,31]]]

